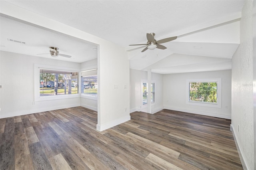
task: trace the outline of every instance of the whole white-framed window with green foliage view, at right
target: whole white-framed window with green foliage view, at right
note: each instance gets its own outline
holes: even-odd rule
[[[221,107],[221,79],[187,80],[186,104]]]

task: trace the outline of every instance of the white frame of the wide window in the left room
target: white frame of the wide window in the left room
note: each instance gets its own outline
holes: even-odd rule
[[[78,94],[67,94],[67,95],[51,95],[51,96],[40,96],[40,69],[48,69],[55,71],[75,71],[78,72],[78,82],[80,71],[74,68],[68,67],[57,67],[53,65],[41,65],[34,64],[34,101],[48,101],[48,100],[59,100],[59,99],[70,99],[80,97],[79,86],[78,86]]]

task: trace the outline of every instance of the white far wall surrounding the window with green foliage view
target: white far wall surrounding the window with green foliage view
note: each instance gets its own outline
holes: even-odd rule
[[[186,80],[210,78],[221,78],[222,80],[222,107],[187,105],[186,93],[188,93],[188,89]],[[164,75],[163,97],[165,109],[231,119],[231,70]]]

